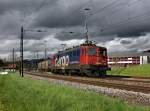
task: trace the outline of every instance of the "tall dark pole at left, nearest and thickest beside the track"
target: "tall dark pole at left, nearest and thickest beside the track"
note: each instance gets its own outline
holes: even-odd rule
[[[21,37],[20,37],[20,75],[21,77],[24,77],[23,75],[23,36],[24,36],[24,29],[23,26],[21,26]]]

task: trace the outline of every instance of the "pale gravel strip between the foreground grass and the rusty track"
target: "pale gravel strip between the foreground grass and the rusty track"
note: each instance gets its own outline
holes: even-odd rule
[[[150,94],[144,94],[139,92],[114,89],[114,88],[107,88],[107,87],[100,87],[100,86],[93,86],[93,85],[86,85],[86,84],[80,84],[75,82],[68,82],[64,80],[55,80],[55,79],[44,78],[44,77],[33,76],[33,75],[27,75],[27,76],[32,79],[47,80],[49,82],[59,84],[59,85],[71,86],[86,91],[102,93],[114,98],[120,98],[121,100],[125,100],[130,104],[150,106]]]

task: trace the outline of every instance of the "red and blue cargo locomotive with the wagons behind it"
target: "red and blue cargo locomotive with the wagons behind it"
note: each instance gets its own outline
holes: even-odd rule
[[[102,76],[106,75],[106,71],[110,68],[107,62],[107,49],[89,41],[59,51],[50,60],[39,63],[38,69],[49,70],[56,74]]]

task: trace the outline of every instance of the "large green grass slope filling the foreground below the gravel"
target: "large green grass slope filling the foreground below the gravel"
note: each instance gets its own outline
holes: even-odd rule
[[[0,75],[0,111],[150,111],[121,100],[46,81]]]

